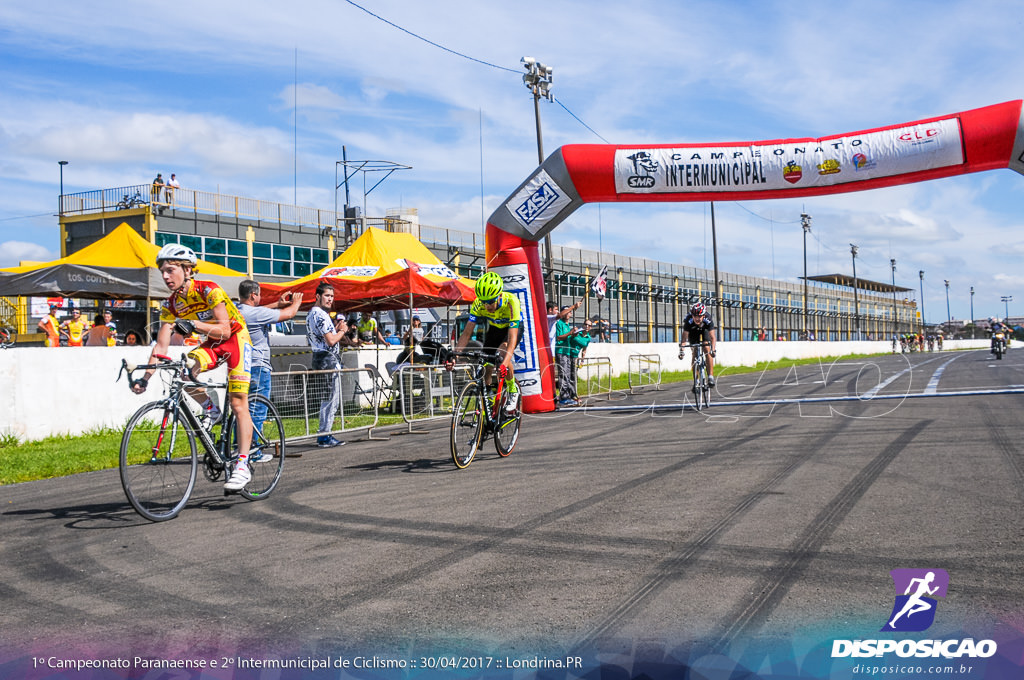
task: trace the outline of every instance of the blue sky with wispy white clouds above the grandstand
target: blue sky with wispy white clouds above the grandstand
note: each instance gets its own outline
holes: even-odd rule
[[[415,207],[424,224],[479,230],[537,166],[524,55],[555,70],[547,154],[839,134],[1024,97],[1019,0],[358,4],[478,61],[345,0],[0,5],[0,266],[58,254],[58,160],[69,194],[175,172],[190,188],[333,208],[344,144],[349,160],[412,166],[367,197],[368,214]],[[929,321],[945,318],[944,280],[953,317],[969,316],[972,286],[976,317],[1001,314],[1004,295],[1022,315],[1022,206],[1010,170],[716,203],[719,263],[797,281],[806,211],[811,273],[849,272],[856,243],[862,278],[889,281],[894,257],[916,298],[925,270]],[[710,266],[708,230],[707,204],[605,204],[552,238]]]

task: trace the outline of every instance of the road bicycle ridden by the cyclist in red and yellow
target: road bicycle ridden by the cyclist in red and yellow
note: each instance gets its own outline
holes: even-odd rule
[[[185,399],[188,387],[223,389],[227,384],[194,380],[184,355],[178,362],[159,354],[154,358],[157,364],[144,366],[121,362],[121,373],[128,374],[129,386],[137,382],[132,379],[135,371],[154,369],[165,372],[163,375],[169,379],[167,396],[136,411],[125,427],[121,438],[121,485],[138,514],[152,521],[164,521],[176,517],[184,508],[201,466],[210,481],[226,479],[239,454],[234,414],[228,407],[230,397],[226,391],[223,418],[213,424],[196,415],[195,402]],[[239,492],[250,501],[269,496],[281,481],[285,467],[285,427],[281,416],[265,396],[250,394],[250,413],[256,405],[266,408],[266,418],[253,431],[249,451],[252,480]],[[197,440],[203,447],[202,460]]]

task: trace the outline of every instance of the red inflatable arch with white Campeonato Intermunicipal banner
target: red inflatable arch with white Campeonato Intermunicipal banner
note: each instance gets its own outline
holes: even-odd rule
[[[998,168],[1024,174],[1021,103],[819,138],[558,148],[486,225],[487,267],[522,303],[516,377],[524,410],[554,409],[538,243],[580,206],[819,196]]]

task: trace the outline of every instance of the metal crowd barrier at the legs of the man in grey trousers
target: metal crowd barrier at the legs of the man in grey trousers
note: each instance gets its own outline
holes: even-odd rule
[[[270,375],[270,400],[285,423],[289,440],[360,430],[374,439],[379,438],[373,436],[379,410],[387,408],[393,396],[381,387],[366,368],[283,371]],[[329,421],[323,431],[322,419]]]

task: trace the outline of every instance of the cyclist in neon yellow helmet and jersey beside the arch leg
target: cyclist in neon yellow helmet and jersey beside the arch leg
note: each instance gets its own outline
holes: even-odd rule
[[[509,400],[505,409],[508,413],[515,413],[519,406],[519,386],[515,381],[512,358],[519,344],[522,313],[519,298],[505,292],[505,283],[495,271],[487,271],[476,280],[476,300],[469,307],[469,322],[459,336],[456,352],[466,347],[477,325],[482,323],[487,324],[483,347],[495,355],[499,375],[507,380]],[[489,371],[485,379],[492,379]]]

